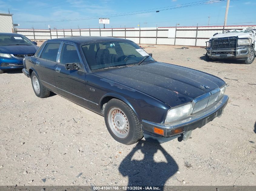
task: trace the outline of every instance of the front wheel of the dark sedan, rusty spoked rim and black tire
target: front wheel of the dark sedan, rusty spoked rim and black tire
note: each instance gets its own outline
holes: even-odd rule
[[[108,132],[116,141],[125,145],[132,145],[143,138],[138,117],[121,100],[111,99],[108,101],[104,110],[104,118]]]

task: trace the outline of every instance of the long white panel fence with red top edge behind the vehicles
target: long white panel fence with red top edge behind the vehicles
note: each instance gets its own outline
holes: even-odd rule
[[[244,29],[252,26],[226,26],[229,29]],[[254,26],[255,27],[255,26]],[[48,40],[71,36],[107,36],[119,37],[141,44],[165,44],[182,46],[205,46],[205,41],[215,33],[221,33],[223,26],[204,27],[144,27],[144,28],[107,28],[107,29],[16,29],[16,33],[31,40]],[[57,34],[58,32],[58,34]]]

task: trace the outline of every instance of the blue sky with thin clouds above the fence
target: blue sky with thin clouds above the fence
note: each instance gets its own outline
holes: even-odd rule
[[[98,17],[104,16],[110,18],[110,24],[106,24],[106,28],[118,27],[158,27],[175,26],[176,22],[180,26],[199,26],[208,25],[208,17],[210,16],[210,25],[222,25],[224,22],[226,0],[215,3],[214,0],[201,2],[202,0],[0,0],[0,13],[13,14],[14,23],[20,24],[19,28],[48,29],[51,28],[103,28],[98,24]],[[218,0],[215,0],[218,1]],[[200,6],[185,7],[192,2],[206,3]],[[187,4],[187,5],[182,5]],[[172,6],[172,7],[170,7]],[[167,8],[163,8],[167,7]],[[254,7],[254,8],[253,8]],[[228,25],[237,24],[256,24],[255,0],[231,0],[228,12]],[[176,8],[171,10],[162,10],[168,8]],[[151,9],[151,10],[148,10]],[[148,10],[148,11],[141,11]],[[160,12],[155,12],[160,10]],[[141,14],[124,15],[111,17],[138,11]],[[149,12],[152,11],[152,12]],[[131,14],[131,13],[127,13]],[[110,16],[107,16],[110,15]],[[254,15],[254,16],[253,16]],[[92,18],[94,19],[85,19]],[[83,19],[75,21],[59,21],[68,19]],[[43,21],[43,22],[38,22]],[[57,22],[52,22],[57,21]]]

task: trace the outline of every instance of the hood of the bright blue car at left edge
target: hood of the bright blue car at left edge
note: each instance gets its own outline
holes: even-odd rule
[[[31,45],[9,45],[9,46],[0,46],[0,53],[4,54],[35,54],[38,46]]]

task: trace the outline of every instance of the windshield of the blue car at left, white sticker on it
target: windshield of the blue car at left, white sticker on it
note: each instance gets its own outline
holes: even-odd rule
[[[27,37],[9,34],[0,34],[0,46],[34,45]]]

